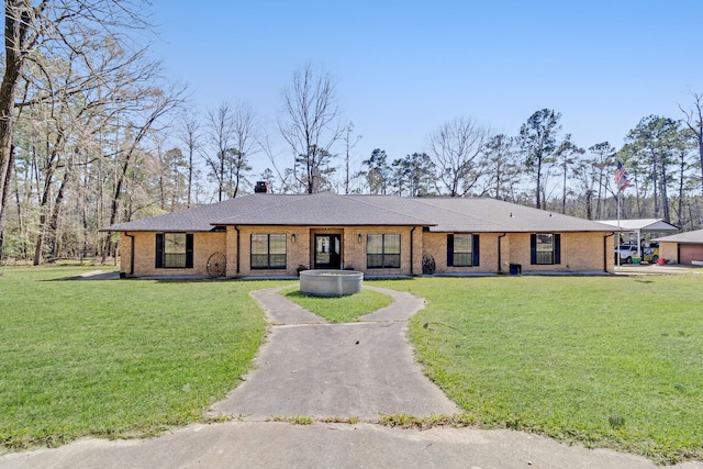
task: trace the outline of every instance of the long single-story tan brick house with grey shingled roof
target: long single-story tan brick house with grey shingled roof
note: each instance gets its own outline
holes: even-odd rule
[[[478,198],[254,193],[133,221],[124,276],[613,271],[613,226]],[[513,266],[516,268],[516,266]]]

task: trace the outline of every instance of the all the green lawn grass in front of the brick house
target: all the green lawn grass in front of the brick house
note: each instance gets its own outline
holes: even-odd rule
[[[0,453],[81,436],[147,436],[204,418],[261,343],[264,315],[248,292],[281,284],[56,280],[93,269],[0,270]],[[701,277],[375,284],[427,299],[410,336],[427,375],[464,411],[435,420],[401,414],[387,424],[476,423],[660,464],[703,460]],[[342,299],[289,294],[326,304],[303,306],[334,322],[390,303],[367,290]],[[360,308],[366,294],[381,303]]]

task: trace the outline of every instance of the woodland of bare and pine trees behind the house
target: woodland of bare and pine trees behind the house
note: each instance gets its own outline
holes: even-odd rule
[[[577,142],[549,107],[512,132],[492,131],[469,109],[427,122],[422,145],[389,154],[341,105],[344,76],[314,62],[271,90],[272,119],[246,90],[199,109],[193,89],[154,59],[152,12],[138,0],[5,0],[5,263],[105,260],[118,246],[101,227],[242,197],[256,181],[277,193],[490,197],[590,220],[617,216],[620,196],[623,219],[703,225],[700,89],[674,115],[633,122],[622,144]],[[615,181],[618,161],[627,185]]]

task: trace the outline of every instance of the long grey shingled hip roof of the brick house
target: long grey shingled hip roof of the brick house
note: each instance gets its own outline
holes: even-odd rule
[[[121,223],[109,232],[208,232],[224,225],[425,226],[432,232],[613,232],[605,224],[493,199],[256,193],[167,215]]]

